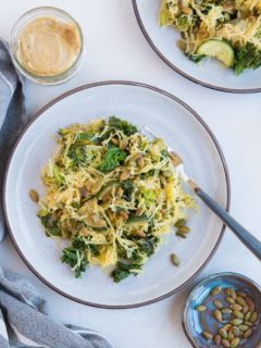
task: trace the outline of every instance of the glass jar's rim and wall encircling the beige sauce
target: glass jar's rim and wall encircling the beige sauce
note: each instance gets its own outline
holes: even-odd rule
[[[35,72],[29,71],[25,67],[25,64],[22,63],[21,52],[20,52],[20,39],[24,29],[26,29],[27,25],[33,23],[34,20],[38,18],[52,18],[55,23],[63,23],[71,25],[71,27],[77,30],[77,35],[79,37],[79,49],[77,51],[75,60],[72,64],[66,67],[64,71],[59,72],[58,74],[51,74],[44,76],[42,74],[37,74]],[[76,72],[79,70],[80,65],[84,61],[85,55],[85,45],[84,45],[84,36],[80,29],[79,24],[65,11],[52,8],[52,7],[40,7],[33,9],[25,14],[23,14],[17,22],[14,24],[12,33],[11,33],[11,55],[15,67],[28,79],[34,83],[41,85],[55,85],[64,83],[70,79]]]

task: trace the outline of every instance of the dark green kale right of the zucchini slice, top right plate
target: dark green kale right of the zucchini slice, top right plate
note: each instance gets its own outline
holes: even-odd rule
[[[258,69],[261,66],[261,51],[252,44],[235,50],[234,72],[239,75],[245,69]]]

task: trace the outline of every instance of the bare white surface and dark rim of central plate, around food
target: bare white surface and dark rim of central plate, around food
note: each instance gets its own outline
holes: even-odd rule
[[[111,82],[84,86],[55,99],[34,117],[20,137],[10,159],[4,186],[5,217],[12,239],[27,265],[60,294],[82,303],[104,308],[147,304],[181,289],[206,265],[224,232],[222,222],[199,203],[187,239],[171,235],[146,264],[144,273],[120,284],[99,268],[89,268],[75,279],[60,262],[62,245],[47,238],[37,204],[28,198],[40,195],[41,167],[55,148],[54,135],[72,123],[88,123],[117,115],[139,127],[149,126],[185,159],[188,173],[224,208],[229,202],[229,181],[221,149],[203,121],[177,98],[157,88]],[[181,257],[181,266],[170,254]]]

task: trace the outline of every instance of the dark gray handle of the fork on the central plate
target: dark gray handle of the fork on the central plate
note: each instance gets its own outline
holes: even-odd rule
[[[259,241],[250,232],[244,228],[234,217],[232,217],[223,208],[221,208],[208,194],[201,188],[196,187],[195,192],[201,200],[228,226],[236,236],[261,260],[261,241]]]

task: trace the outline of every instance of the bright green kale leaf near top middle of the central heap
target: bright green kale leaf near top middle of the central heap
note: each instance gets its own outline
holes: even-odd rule
[[[107,153],[99,164],[98,171],[102,173],[111,172],[115,166],[122,164],[126,157],[127,153],[125,151],[109,144]]]

